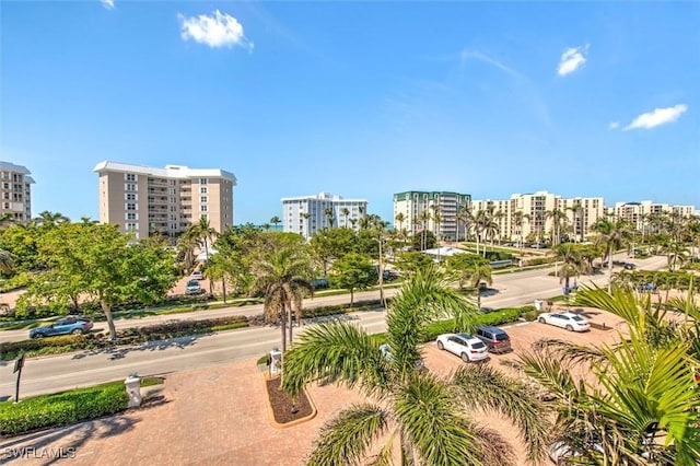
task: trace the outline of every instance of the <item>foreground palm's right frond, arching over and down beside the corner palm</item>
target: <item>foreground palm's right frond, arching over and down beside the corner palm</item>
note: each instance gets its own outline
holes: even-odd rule
[[[551,426],[545,420],[542,404],[527,385],[487,364],[460,366],[452,383],[459,388],[458,400],[467,408],[493,410],[510,418],[527,444],[529,461],[546,455]]]

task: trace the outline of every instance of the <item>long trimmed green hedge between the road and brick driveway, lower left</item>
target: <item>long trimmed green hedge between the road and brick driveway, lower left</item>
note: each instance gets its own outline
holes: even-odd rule
[[[37,429],[68,426],[127,409],[122,382],[0,403],[0,434],[16,435]]]

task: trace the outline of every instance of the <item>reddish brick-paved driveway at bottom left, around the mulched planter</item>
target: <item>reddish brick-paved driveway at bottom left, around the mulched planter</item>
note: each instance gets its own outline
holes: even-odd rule
[[[0,440],[13,465],[302,465],[318,429],[362,398],[337,386],[311,385],[317,416],[288,429],[268,418],[262,376],[253,360],[170,375],[163,404],[63,429]],[[33,447],[28,458],[8,448]],[[52,450],[51,450],[52,448]],[[72,450],[70,450],[72,448]],[[42,454],[63,453],[56,462]]]

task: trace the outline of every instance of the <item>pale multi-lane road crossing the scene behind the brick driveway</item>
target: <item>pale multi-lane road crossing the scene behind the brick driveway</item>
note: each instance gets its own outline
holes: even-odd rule
[[[644,269],[660,269],[666,266],[665,257],[634,260]],[[505,307],[532,303],[561,293],[559,278],[549,277],[549,270],[528,270],[517,273],[494,276],[493,294],[482,296],[481,304]],[[607,273],[582,277],[580,284],[607,283]],[[394,293],[387,290],[387,295]],[[355,293],[355,300],[376,299],[378,292]],[[329,304],[348,302],[347,295],[315,298],[314,303]],[[308,304],[308,303],[307,303]],[[152,316],[139,321],[120,321],[118,325],[145,325],[173,319],[207,318],[214,315],[244,315],[261,313],[261,306],[232,307],[225,310],[178,314],[176,316]],[[370,333],[385,329],[384,311],[353,313],[341,316],[366,328]],[[304,326],[311,324],[304,324]],[[302,330],[304,328],[302,326]],[[294,328],[295,331],[300,329]],[[23,330],[26,335],[26,330]],[[3,340],[9,331],[1,333]],[[54,393],[102,382],[124,380],[129,374],[159,375],[186,371],[207,365],[222,364],[236,360],[257,358],[279,346],[279,328],[267,326],[223,331],[212,335],[183,337],[168,341],[117,348],[109,351],[81,351],[70,354],[27,359],[22,373],[20,397]],[[14,362],[0,362],[0,397],[14,397]]]

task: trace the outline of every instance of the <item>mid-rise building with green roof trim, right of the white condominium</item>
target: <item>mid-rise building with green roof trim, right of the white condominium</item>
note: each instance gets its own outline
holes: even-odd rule
[[[415,235],[427,229],[439,240],[464,238],[458,221],[462,209],[468,208],[471,196],[451,191],[405,191],[394,195],[394,225]]]

